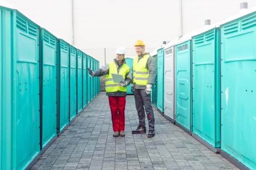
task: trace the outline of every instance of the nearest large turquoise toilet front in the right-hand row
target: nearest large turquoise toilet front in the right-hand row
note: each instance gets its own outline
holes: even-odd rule
[[[221,26],[221,149],[256,170],[256,12]]]

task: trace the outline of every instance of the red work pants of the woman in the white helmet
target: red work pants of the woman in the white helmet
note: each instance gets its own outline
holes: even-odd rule
[[[125,96],[108,96],[113,130],[125,130]]]

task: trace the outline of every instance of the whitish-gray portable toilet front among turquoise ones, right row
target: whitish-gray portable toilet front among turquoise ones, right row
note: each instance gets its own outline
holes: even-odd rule
[[[164,116],[175,123],[174,116],[174,46],[164,48]]]

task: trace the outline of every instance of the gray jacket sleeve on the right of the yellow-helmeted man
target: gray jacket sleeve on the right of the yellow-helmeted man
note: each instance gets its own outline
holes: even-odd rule
[[[148,76],[148,84],[154,85],[157,77],[157,65],[156,65],[156,60],[153,57],[149,57],[146,68],[149,71],[149,76]]]

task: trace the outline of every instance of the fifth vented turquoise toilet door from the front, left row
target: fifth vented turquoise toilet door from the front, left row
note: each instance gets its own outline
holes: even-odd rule
[[[83,64],[83,52],[77,50],[77,110],[80,112],[83,108],[83,89],[82,89],[82,64]]]

